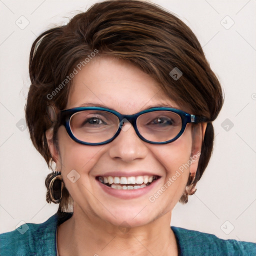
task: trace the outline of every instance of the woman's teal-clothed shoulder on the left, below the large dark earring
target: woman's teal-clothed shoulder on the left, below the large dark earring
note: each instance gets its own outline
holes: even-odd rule
[[[54,214],[43,223],[24,223],[0,234],[0,255],[55,255],[57,221]]]

